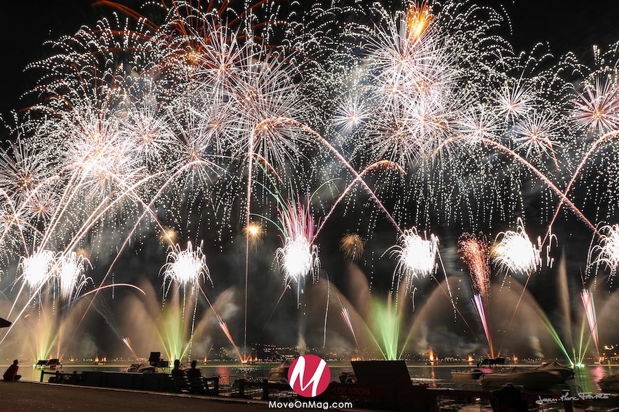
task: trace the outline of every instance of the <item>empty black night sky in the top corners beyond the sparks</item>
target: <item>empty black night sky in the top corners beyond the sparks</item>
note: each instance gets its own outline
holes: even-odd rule
[[[23,73],[29,62],[47,56],[43,42],[63,34],[73,34],[80,25],[91,25],[111,10],[92,6],[90,0],[52,0],[12,3],[0,13],[2,76],[0,113],[21,108],[19,96],[36,78]],[[135,7],[140,1],[121,3]],[[232,2],[234,3],[234,2]],[[602,47],[619,40],[619,4],[612,0],[486,0],[488,5],[504,4],[512,21],[512,35],[506,34],[517,51],[538,42],[550,43],[557,56],[572,51],[590,56],[591,45]]]

